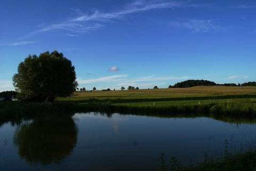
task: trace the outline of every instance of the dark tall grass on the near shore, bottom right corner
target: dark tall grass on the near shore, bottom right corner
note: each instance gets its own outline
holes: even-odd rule
[[[160,156],[160,171],[253,171],[256,170],[256,146],[255,143],[249,145],[249,147],[241,146],[239,149],[231,146],[226,140],[224,143],[223,152],[220,149],[220,156],[214,158],[208,156],[205,152],[205,158],[202,162],[197,164],[182,165],[176,157],[172,157],[169,162],[166,163],[164,153]],[[246,149],[246,150],[245,150]],[[167,160],[168,161],[168,160]]]

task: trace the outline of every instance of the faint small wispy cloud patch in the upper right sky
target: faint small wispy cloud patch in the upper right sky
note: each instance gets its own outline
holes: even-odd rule
[[[218,32],[223,30],[222,27],[215,26],[212,20],[188,20],[188,21],[174,21],[171,25],[191,30],[192,32]]]

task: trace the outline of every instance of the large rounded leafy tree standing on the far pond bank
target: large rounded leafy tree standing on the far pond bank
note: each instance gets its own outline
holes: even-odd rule
[[[29,101],[52,102],[57,96],[70,96],[78,86],[75,67],[58,51],[29,55],[12,79],[15,90]]]

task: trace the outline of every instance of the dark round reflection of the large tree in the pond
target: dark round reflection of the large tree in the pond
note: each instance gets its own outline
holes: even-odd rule
[[[77,130],[71,117],[37,119],[19,126],[13,141],[30,163],[58,163],[73,152]]]

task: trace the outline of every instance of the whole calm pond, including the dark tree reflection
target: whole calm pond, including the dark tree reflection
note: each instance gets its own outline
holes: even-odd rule
[[[157,170],[160,156],[182,164],[255,142],[255,124],[206,117],[76,113],[0,127],[0,170]],[[7,144],[6,144],[7,141]]]

